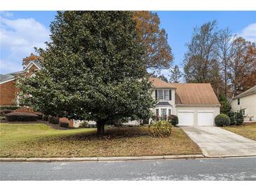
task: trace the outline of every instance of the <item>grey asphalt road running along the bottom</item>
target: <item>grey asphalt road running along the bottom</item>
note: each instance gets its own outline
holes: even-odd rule
[[[256,157],[0,165],[0,180],[256,180]]]

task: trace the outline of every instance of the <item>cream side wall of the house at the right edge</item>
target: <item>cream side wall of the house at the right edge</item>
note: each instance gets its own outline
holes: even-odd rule
[[[232,111],[237,112],[240,109],[245,109],[245,121],[256,121],[256,94],[240,97],[240,104],[237,104],[237,99],[231,101]]]

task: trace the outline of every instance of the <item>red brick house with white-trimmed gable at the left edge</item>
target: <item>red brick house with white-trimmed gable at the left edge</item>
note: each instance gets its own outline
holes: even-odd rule
[[[18,89],[15,85],[18,81],[18,76],[34,76],[36,71],[41,68],[39,63],[31,61],[27,66],[24,66],[22,71],[0,74],[0,106],[18,105]]]

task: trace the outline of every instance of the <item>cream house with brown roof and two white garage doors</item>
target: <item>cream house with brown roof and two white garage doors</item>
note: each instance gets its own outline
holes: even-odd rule
[[[210,83],[166,83],[159,78],[149,81],[154,86],[155,116],[176,115],[179,125],[214,125],[220,102]]]

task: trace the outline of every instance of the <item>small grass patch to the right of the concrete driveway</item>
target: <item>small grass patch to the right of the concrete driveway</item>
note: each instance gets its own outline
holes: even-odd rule
[[[232,125],[224,129],[256,141],[256,123],[244,123],[239,126]]]

